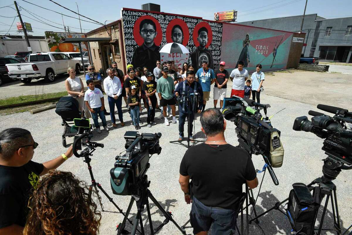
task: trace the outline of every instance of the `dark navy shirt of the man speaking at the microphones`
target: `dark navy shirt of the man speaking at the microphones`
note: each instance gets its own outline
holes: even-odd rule
[[[183,98],[182,97],[182,91],[183,91],[183,84],[184,84],[184,89],[185,89],[185,92],[184,92],[184,95],[188,95],[188,94],[194,94],[194,86],[195,84],[197,84],[197,88],[196,88],[196,92],[200,95],[200,100],[203,100],[203,90],[202,90],[202,87],[201,85],[199,84],[199,82],[197,81],[194,81],[190,86],[188,85],[187,83],[187,80],[186,81],[182,81],[178,84],[175,92],[178,92],[178,95],[181,97],[181,99]],[[192,95],[190,97],[193,97]],[[187,97],[186,97],[187,98]],[[185,100],[187,100],[185,98]],[[184,111],[183,111],[183,106],[184,106]],[[182,113],[188,113],[188,104],[184,104],[183,103],[181,104],[178,104],[178,111],[179,112],[182,112]],[[203,107],[203,102],[201,101],[198,106],[197,104],[194,105],[194,112],[197,111],[197,109],[201,110]]]

